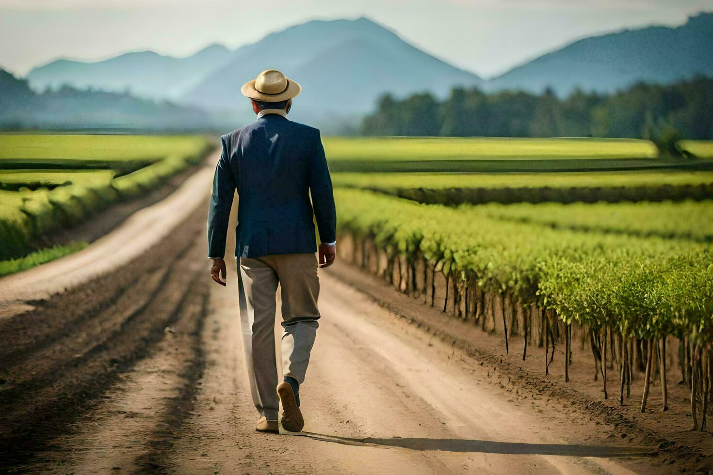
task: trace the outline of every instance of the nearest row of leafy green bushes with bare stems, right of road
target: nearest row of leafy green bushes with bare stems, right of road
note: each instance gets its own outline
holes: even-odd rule
[[[604,384],[607,353],[618,360],[622,404],[632,380],[632,355],[643,351],[641,410],[655,370],[666,405],[666,370],[655,362],[665,365],[666,341],[679,339],[694,426],[704,427],[713,379],[713,256],[707,244],[498,221],[354,189],[337,189],[335,196],[339,231],[352,237],[362,265],[370,254],[380,256],[377,273],[389,281],[396,274],[397,288],[430,298],[431,304],[436,273],[442,274],[443,310],[450,298],[453,313],[484,325],[486,315],[496,320],[498,308],[508,351],[508,323],[512,331],[519,322],[528,342],[534,321],[548,351],[563,339],[570,355],[574,324],[589,336]],[[569,363],[565,357],[565,381]]]

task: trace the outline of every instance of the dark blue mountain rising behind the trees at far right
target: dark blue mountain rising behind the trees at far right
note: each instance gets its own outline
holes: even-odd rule
[[[677,28],[649,26],[593,36],[529,61],[491,80],[487,90],[575,88],[608,93],[638,81],[674,83],[713,75],[713,13]]]

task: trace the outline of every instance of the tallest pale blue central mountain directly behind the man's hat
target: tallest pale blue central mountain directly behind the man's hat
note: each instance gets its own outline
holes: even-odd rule
[[[276,68],[302,85],[290,115],[347,117],[373,110],[384,93],[403,97],[431,91],[444,96],[454,85],[483,80],[419,50],[369,19],[309,21],[272,33],[234,51],[182,101],[211,110],[245,103],[240,85]],[[245,105],[247,107],[247,105]]]

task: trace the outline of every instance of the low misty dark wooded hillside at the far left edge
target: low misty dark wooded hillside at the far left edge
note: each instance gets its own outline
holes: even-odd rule
[[[212,125],[203,110],[135,98],[126,93],[58,90],[36,93],[24,79],[0,69],[0,128],[194,129]]]

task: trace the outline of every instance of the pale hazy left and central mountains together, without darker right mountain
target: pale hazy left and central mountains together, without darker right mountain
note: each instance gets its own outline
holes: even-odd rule
[[[217,60],[196,61],[211,55]],[[344,61],[347,57],[352,63]],[[66,84],[225,110],[243,99],[240,85],[267,68],[294,75],[304,86],[304,98],[310,99],[301,104],[305,115],[358,115],[369,112],[384,93],[430,90],[442,96],[456,85],[483,85],[477,75],[421,51],[364,16],[307,21],[235,50],[212,43],[185,58],[150,50],[94,62],[61,58],[34,68],[27,79],[36,91]],[[190,77],[183,77],[187,71]]]

